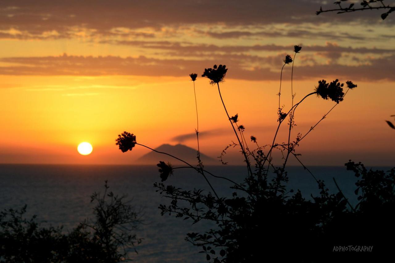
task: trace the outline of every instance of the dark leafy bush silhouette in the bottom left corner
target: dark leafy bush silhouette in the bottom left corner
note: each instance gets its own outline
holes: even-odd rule
[[[63,227],[42,227],[36,216],[27,219],[26,205],[0,212],[0,262],[117,263],[130,260],[129,249],[141,239],[133,231],[140,212],[114,193],[94,193],[95,220],[85,220],[69,233]],[[137,251],[136,251],[137,252]]]

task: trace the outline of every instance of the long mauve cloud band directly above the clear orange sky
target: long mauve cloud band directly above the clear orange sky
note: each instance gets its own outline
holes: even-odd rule
[[[264,58],[272,61],[274,57]],[[302,58],[302,56],[300,56]],[[199,72],[213,64],[226,64],[229,68],[227,77],[244,80],[277,80],[278,71],[272,66],[254,66],[246,69],[238,60],[184,60],[158,59],[146,56],[121,58],[117,56],[47,56],[1,58],[0,62],[16,63],[15,66],[0,67],[2,75],[145,75],[145,76],[185,76],[191,71]],[[279,60],[280,58],[276,58]],[[311,59],[311,58],[309,58]],[[282,60],[280,60],[281,63]],[[314,60],[313,60],[314,61]],[[274,63],[274,62],[273,62]],[[298,66],[294,79],[311,78],[347,78],[355,80],[390,80],[395,81],[395,55],[378,58],[368,57],[358,65],[348,66],[333,62]],[[278,69],[276,69],[278,70]],[[286,68],[285,73],[290,69]]]

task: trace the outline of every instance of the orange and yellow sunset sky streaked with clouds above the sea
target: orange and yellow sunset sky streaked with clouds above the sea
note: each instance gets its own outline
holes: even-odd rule
[[[220,84],[229,114],[239,114],[248,137],[269,144],[283,60],[301,45],[296,101],[320,79],[358,85],[297,148],[301,160],[393,165],[395,132],[385,120],[395,114],[395,14],[384,21],[380,11],[315,15],[332,2],[3,0],[0,163],[134,164],[147,150],[120,152],[115,139],[122,131],[152,148],[196,148],[190,73],[199,74],[201,151],[216,158],[235,138],[218,90],[200,77],[214,64],[229,68]],[[285,109],[290,78],[287,65]],[[295,115],[293,138],[333,105],[308,98]],[[283,128],[279,143],[286,139]],[[83,141],[93,145],[92,154],[77,152]],[[243,162],[237,149],[227,158]]]

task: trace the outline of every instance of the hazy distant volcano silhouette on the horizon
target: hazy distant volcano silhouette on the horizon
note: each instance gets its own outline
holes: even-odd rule
[[[196,158],[196,152],[194,148],[190,148],[186,145],[182,144],[177,144],[177,145],[169,145],[169,144],[162,144],[158,148],[155,148],[155,150],[159,152],[166,152],[168,154],[171,154],[173,156],[176,156],[185,162],[190,163],[191,165],[197,165],[198,164],[198,159]],[[216,160],[213,158],[200,153],[200,159],[202,160],[203,164],[218,164]],[[159,154],[157,152],[149,152],[143,156],[141,156],[139,159],[137,159],[138,162],[142,164],[156,164],[159,161],[164,161],[164,162],[170,162],[170,163],[181,163],[179,160],[174,159],[173,157],[170,157],[165,154]]]

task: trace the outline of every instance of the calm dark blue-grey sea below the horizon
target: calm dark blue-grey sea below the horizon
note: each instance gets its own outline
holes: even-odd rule
[[[214,174],[241,182],[245,167],[206,167]],[[384,167],[385,169],[385,167]],[[325,180],[327,187],[336,192],[332,177],[340,188],[355,203],[354,175],[345,167],[310,167],[318,179]],[[288,168],[290,188],[300,189],[305,197],[318,194],[314,179],[301,167]],[[184,240],[189,231],[204,231],[210,225],[191,225],[188,220],[173,215],[160,215],[158,205],[167,203],[155,192],[154,182],[160,182],[157,167],[121,165],[0,165],[0,209],[19,209],[27,205],[28,216],[38,215],[43,224],[75,227],[85,218],[92,217],[90,195],[103,192],[104,180],[116,194],[133,197],[133,204],[143,208],[144,225],[137,231],[143,242],[137,246],[139,254],[133,255],[135,262],[206,262],[199,248]],[[192,190],[208,189],[205,180],[190,169],[178,169],[168,184]],[[229,184],[211,178],[218,195],[229,195]],[[44,223],[46,222],[46,223]]]

